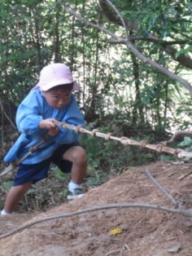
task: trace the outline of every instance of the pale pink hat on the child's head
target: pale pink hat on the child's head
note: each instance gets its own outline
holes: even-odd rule
[[[72,73],[67,65],[62,63],[49,64],[41,69],[39,82],[36,87],[41,90],[50,90],[55,86],[72,83]],[[79,84],[73,82],[72,90],[80,90]]]

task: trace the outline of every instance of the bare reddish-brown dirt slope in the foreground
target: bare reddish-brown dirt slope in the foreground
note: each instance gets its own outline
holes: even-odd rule
[[[151,203],[173,208],[172,201],[149,179],[146,170],[185,208],[192,208],[192,174],[181,179],[192,170],[192,163],[157,161],[149,166],[128,167],[116,178],[90,189],[81,199],[46,213],[0,216],[0,255],[191,256],[191,218],[162,210],[122,207],[125,203]],[[121,207],[103,207],[111,204]],[[94,211],[94,207],[103,208]],[[85,209],[85,213],[76,214]],[[17,231],[18,227],[48,217],[51,219]],[[11,231],[15,233],[2,238]]]

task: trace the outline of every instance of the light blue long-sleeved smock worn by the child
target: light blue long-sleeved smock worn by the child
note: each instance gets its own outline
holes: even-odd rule
[[[85,126],[84,118],[76,102],[75,95],[72,95],[70,102],[62,109],[51,107],[42,95],[41,90],[31,90],[17,109],[16,125],[20,137],[4,157],[5,162],[16,161],[28,152],[28,149],[41,141],[42,135],[47,130],[39,128],[39,121],[46,118],[55,118],[57,121],[65,121],[74,126]],[[30,165],[46,160],[61,144],[74,143],[79,138],[74,130],[59,127],[59,134],[50,136],[40,148],[29,157],[23,164]]]

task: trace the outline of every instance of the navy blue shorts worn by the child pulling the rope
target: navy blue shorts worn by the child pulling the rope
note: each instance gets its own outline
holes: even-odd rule
[[[72,171],[72,162],[63,160],[63,154],[69,148],[79,146],[79,143],[65,144],[58,148],[52,157],[33,165],[24,165],[20,163],[13,186],[19,186],[28,182],[37,182],[38,180],[47,178],[50,163],[54,163],[63,173]]]

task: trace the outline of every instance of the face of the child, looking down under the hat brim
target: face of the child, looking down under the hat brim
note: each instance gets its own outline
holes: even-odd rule
[[[43,92],[46,101],[53,108],[63,108],[71,99],[72,90],[53,88]]]

